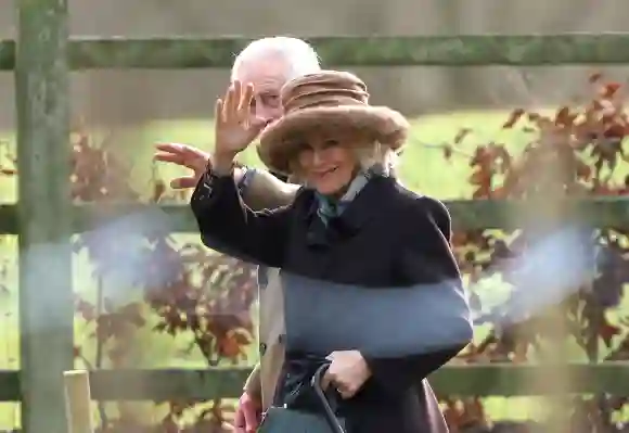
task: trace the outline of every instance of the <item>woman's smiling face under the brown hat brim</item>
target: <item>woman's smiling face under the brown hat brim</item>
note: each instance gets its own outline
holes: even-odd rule
[[[355,131],[309,132],[297,154],[299,177],[321,194],[343,194],[358,170],[354,149],[362,141]]]

